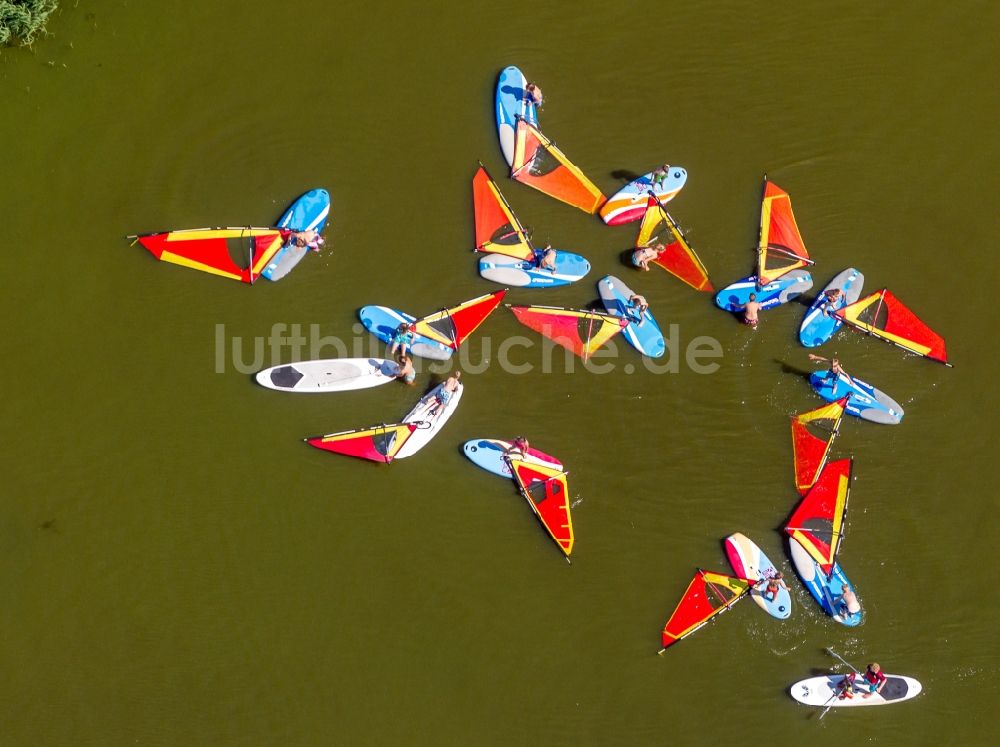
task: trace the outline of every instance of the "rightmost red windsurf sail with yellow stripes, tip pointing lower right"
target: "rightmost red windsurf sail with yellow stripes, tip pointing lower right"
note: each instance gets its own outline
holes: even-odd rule
[[[948,363],[944,338],[924,324],[892,291],[880,291],[860,298],[833,312],[855,329],[875,335],[911,353]]]

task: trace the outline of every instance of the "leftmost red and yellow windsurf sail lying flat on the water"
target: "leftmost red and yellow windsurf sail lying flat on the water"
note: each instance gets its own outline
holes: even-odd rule
[[[253,283],[288,237],[277,228],[194,228],[135,237],[154,257]]]

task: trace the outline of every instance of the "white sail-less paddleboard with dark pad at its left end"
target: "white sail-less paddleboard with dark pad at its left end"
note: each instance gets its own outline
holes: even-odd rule
[[[382,358],[332,358],[266,368],[257,383],[279,392],[346,392],[387,384],[399,366]]]

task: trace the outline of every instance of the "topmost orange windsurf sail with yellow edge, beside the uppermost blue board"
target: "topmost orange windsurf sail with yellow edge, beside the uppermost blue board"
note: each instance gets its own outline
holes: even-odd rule
[[[534,187],[549,197],[596,213],[607,198],[565,154],[534,125],[518,118],[514,135],[511,179]]]

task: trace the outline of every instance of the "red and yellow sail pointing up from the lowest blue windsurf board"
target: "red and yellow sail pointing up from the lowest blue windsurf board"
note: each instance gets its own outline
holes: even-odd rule
[[[851,459],[827,464],[785,525],[788,536],[802,545],[828,576],[833,573],[844,533],[852,465]]]

